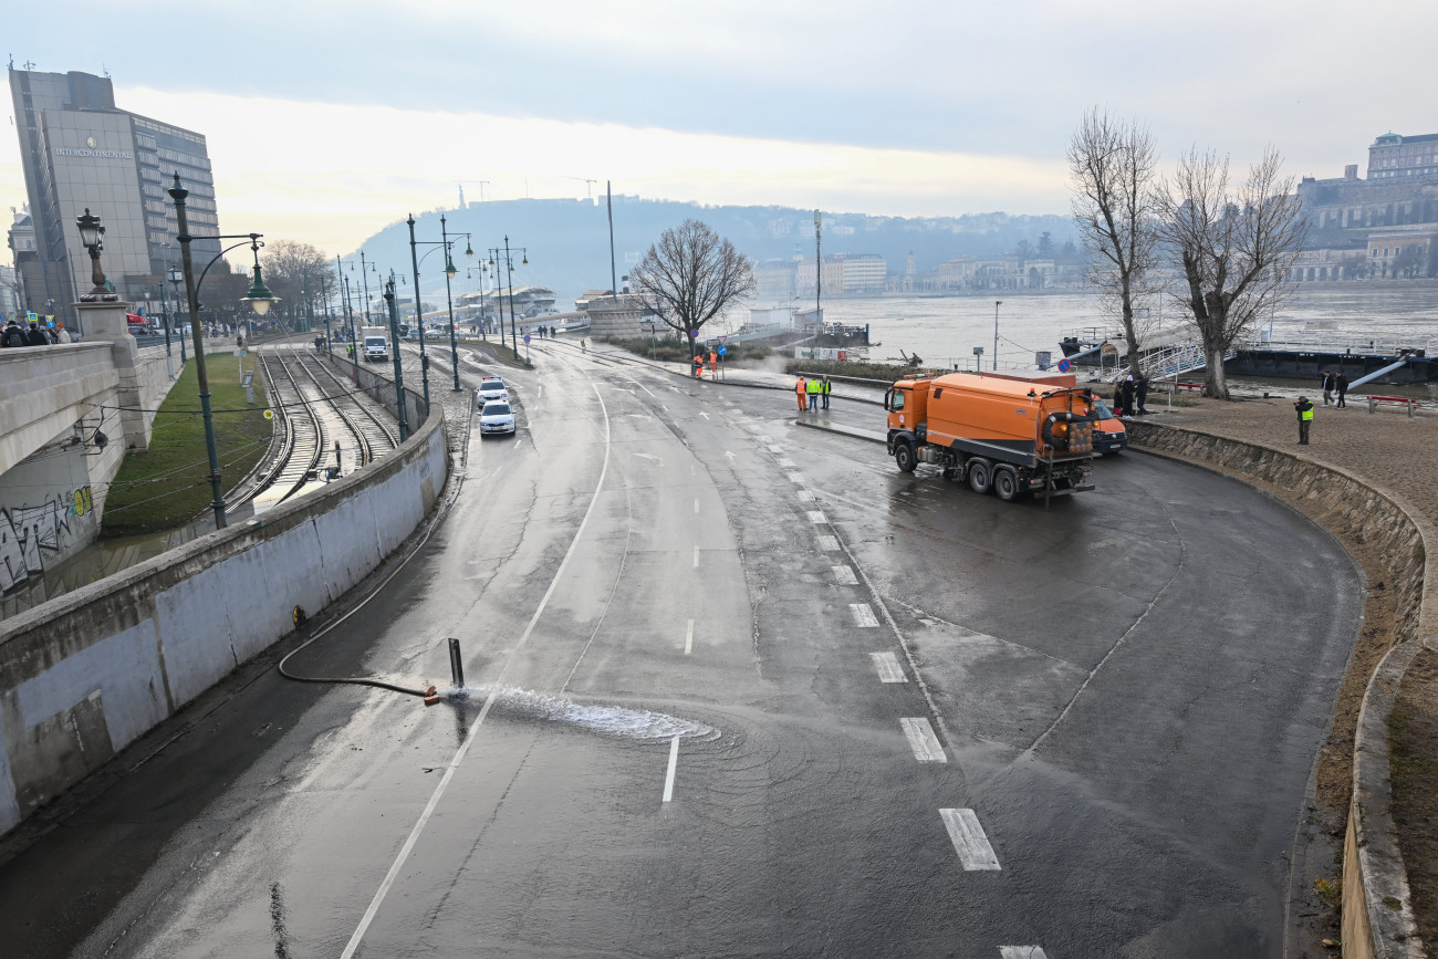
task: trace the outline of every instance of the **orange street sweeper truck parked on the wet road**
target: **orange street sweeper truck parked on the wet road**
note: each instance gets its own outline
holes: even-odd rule
[[[884,393],[889,454],[909,473],[919,463],[991,489],[1004,502],[1093,489],[1094,394],[1043,377],[952,372],[897,381]]]

